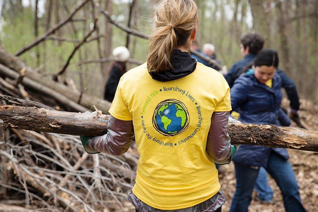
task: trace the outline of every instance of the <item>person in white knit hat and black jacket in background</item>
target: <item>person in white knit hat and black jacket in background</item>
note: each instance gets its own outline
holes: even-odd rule
[[[121,76],[126,73],[126,61],[130,57],[129,50],[125,46],[118,46],[113,50],[114,64],[105,86],[104,99],[112,102]]]

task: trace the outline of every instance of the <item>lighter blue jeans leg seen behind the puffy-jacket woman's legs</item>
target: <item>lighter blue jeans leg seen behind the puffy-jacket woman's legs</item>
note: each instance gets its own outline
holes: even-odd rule
[[[258,193],[258,197],[261,200],[272,200],[273,190],[269,187],[267,182],[267,172],[263,167],[259,167],[259,174],[256,179],[256,184],[254,187]]]

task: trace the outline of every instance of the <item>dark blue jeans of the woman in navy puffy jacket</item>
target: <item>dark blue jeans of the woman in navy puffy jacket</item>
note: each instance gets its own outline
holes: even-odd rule
[[[259,168],[239,163],[234,163],[234,166],[236,190],[232,198],[230,212],[247,212],[252,200],[252,192]],[[266,170],[281,190],[286,212],[306,211],[301,204],[297,180],[290,163],[272,151]]]

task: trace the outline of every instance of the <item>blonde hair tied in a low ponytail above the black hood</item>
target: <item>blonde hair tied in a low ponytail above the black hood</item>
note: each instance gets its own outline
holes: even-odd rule
[[[164,72],[173,69],[170,63],[173,49],[187,43],[198,21],[197,5],[193,0],[162,1],[155,12],[156,31],[148,49],[148,70]]]

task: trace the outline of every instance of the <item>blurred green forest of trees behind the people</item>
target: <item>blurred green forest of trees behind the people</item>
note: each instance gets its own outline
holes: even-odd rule
[[[17,53],[24,46],[66,18],[80,0],[0,0],[0,46]],[[318,1],[317,0],[195,0],[199,8],[197,41],[212,43],[222,65],[229,69],[241,59],[239,38],[258,32],[265,47],[279,52],[280,68],[294,80],[299,95],[318,104]],[[128,35],[95,6],[107,10],[113,20],[151,35],[154,0],[96,0],[85,4],[63,27],[25,51],[27,65],[45,77],[52,77],[70,59],[63,79],[73,79],[80,91],[100,98],[112,62],[112,50],[127,46],[131,58],[143,63],[148,41]],[[94,6],[95,5],[95,6]],[[98,18],[94,29],[94,20]],[[100,61],[104,61],[100,63]],[[128,68],[137,66],[129,63]],[[87,89],[86,89],[87,88]]]

